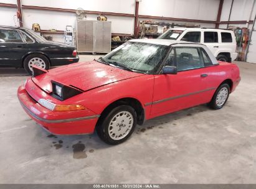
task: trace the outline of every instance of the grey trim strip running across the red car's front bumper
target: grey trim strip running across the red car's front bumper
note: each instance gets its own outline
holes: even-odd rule
[[[39,118],[36,114],[32,113],[22,102],[19,100],[21,103],[21,106],[26,109],[31,116],[34,118],[43,121],[43,122],[48,122],[48,123],[59,123],[59,122],[72,122],[72,121],[81,121],[81,120],[87,120],[87,119],[95,119],[95,118],[100,118],[100,115],[95,115],[95,116],[86,116],[86,117],[81,117],[81,118],[71,118],[71,119],[44,119],[44,118]]]

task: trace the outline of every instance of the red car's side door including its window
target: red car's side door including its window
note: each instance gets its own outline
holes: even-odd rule
[[[166,65],[176,66],[178,73],[155,75],[152,117],[207,103],[205,94],[209,89],[204,82],[204,62],[198,47],[174,45]]]

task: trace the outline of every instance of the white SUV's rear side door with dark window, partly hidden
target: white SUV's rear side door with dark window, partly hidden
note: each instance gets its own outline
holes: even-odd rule
[[[218,32],[204,31],[203,44],[211,50],[215,57],[217,57],[217,52],[219,50],[219,41]]]

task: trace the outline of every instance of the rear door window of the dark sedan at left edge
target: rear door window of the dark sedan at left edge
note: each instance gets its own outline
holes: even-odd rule
[[[22,43],[19,32],[15,30],[1,30],[0,29],[0,42],[6,43]]]

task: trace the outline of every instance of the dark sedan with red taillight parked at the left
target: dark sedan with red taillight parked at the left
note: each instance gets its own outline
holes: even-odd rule
[[[0,67],[25,68],[31,74],[32,65],[48,70],[78,60],[73,46],[45,40],[23,27],[0,26]]]

